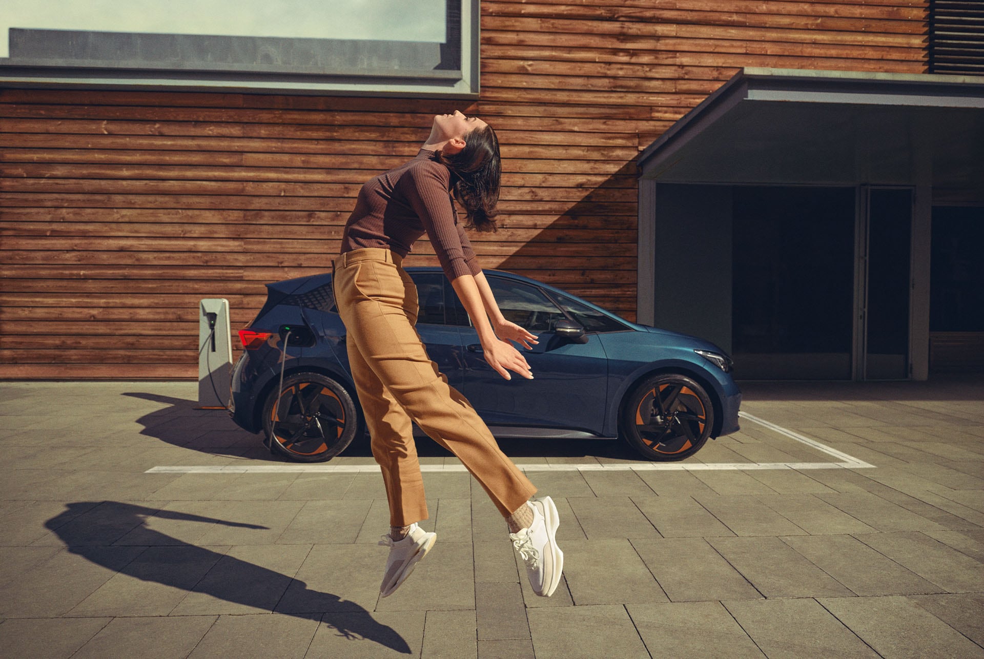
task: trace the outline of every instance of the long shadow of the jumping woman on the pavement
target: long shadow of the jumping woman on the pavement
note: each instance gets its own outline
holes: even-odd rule
[[[267,528],[256,524],[214,519],[176,510],[145,508],[120,502],[66,504],[66,509],[48,519],[44,526],[65,543],[69,552],[114,572],[119,571],[144,581],[155,581],[190,592],[205,593],[227,602],[266,609],[280,615],[305,620],[320,618],[321,622],[336,629],[338,635],[345,638],[371,640],[403,654],[410,653],[409,645],[395,629],[377,623],[368,611],[354,602],[343,600],[333,593],[309,590],[305,582],[292,579],[272,569],[261,568],[154,531],[147,527],[146,519],[150,516],[239,528]],[[106,548],[137,528],[140,528],[139,546],[147,545],[152,550],[163,547],[168,550],[183,548],[180,552],[181,564],[178,569],[174,569],[170,562],[161,561],[160,565],[154,566],[153,560],[149,565],[148,561],[140,561],[137,558],[121,567],[120,557],[107,552]],[[142,553],[142,556],[146,553]],[[219,561],[222,562],[220,573],[212,576],[209,572]],[[188,569],[182,569],[181,566],[187,566]],[[196,579],[197,583],[189,581],[189,571],[194,569],[205,570],[204,575]],[[194,574],[191,576],[195,578]],[[301,608],[306,611],[279,610],[278,603],[286,593],[289,593],[291,602],[302,604],[288,604],[284,608]],[[322,616],[322,613],[316,613],[319,611],[326,613]]]

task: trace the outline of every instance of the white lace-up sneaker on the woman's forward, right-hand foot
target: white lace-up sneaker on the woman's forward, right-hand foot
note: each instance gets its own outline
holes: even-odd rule
[[[550,497],[533,498],[526,506],[533,509],[533,523],[518,533],[510,533],[509,537],[526,564],[526,576],[533,592],[550,597],[564,571],[564,553],[554,537],[560,518]]]

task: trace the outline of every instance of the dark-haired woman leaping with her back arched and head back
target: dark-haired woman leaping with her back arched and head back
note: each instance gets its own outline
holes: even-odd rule
[[[506,380],[510,371],[531,380],[529,364],[510,341],[528,349],[536,336],[503,317],[452,198],[465,210],[468,228],[495,230],[501,172],[499,141],[488,124],[457,110],[434,117],[416,157],[362,186],[334,261],[348,362],[390,503],[390,533],[380,542],[390,547],[384,597],[400,587],[437,537],[416,523],[427,518],[427,504],[411,422],[455,453],[488,493],[509,524],[533,591],[549,597],[560,582],[564,555],[555,538],[556,506],[550,497],[530,499],[536,488],[427,356],[414,328],[417,290],[400,267],[426,233],[478,332],[485,360]]]

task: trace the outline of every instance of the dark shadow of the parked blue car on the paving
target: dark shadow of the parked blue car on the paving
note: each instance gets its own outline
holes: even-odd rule
[[[263,445],[263,436],[254,435],[236,426],[224,410],[198,410],[194,400],[173,396],[130,391],[123,395],[143,398],[167,405],[161,409],[144,414],[137,422],[144,426],[142,435],[154,437],[161,442],[200,450],[213,455],[233,455],[248,459],[288,462],[279,454],[272,454]],[[422,457],[449,457],[450,451],[428,437],[418,437],[417,454]],[[646,461],[620,440],[592,439],[514,439],[498,440],[499,447],[512,457],[584,457],[585,461],[594,458]],[[341,456],[372,457],[369,437],[356,438]]]

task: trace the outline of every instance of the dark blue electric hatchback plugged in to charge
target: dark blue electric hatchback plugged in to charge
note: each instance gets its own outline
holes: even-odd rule
[[[427,352],[496,437],[624,438],[652,460],[694,454],[738,430],[732,362],[706,340],[630,323],[540,281],[485,270],[507,319],[537,334],[523,351],[534,380],[485,362],[439,268],[409,268]],[[232,373],[229,413],[300,461],[338,455],[365,429],[348,371],[330,272],[267,284]]]

